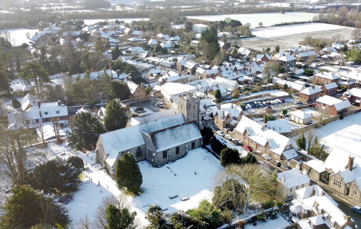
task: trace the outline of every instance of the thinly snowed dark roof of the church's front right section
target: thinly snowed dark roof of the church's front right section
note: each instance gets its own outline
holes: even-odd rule
[[[151,133],[151,139],[157,152],[200,139],[199,128],[195,122],[183,123]],[[188,146],[190,149],[190,147]]]

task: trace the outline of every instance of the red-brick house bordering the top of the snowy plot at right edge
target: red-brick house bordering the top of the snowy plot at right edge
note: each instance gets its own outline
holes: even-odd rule
[[[327,110],[331,115],[339,115],[348,111],[351,103],[348,100],[342,101],[341,99],[331,96],[322,96],[316,99],[316,110]]]

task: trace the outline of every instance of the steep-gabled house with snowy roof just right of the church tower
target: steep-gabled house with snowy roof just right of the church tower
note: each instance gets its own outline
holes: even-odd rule
[[[213,111],[214,127],[221,131],[224,128],[232,131],[244,115],[241,106],[234,103],[218,104],[215,107],[217,109]]]

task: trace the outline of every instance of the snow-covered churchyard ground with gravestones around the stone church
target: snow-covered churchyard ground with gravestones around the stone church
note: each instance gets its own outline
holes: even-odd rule
[[[70,228],[76,229],[79,220],[86,214],[93,220],[96,208],[104,196],[118,195],[120,191],[114,180],[103,170],[98,170],[101,165],[95,164],[94,152],[84,154],[72,150],[67,147],[66,142],[61,145],[49,143],[48,149],[52,152],[52,157],[79,156],[86,166],[90,167],[89,170],[84,171],[84,175],[91,179],[91,182],[82,183],[79,190],[74,192],[73,202],[65,205],[69,209]],[[60,155],[62,153],[65,154]],[[174,212],[196,207],[202,199],[210,200],[214,189],[213,177],[223,169],[219,160],[202,148],[190,150],[184,158],[160,168],[152,167],[147,161],[141,161],[138,165],[143,174],[142,194],[128,198],[132,205],[131,211],[137,212],[136,218],[142,225],[148,224],[144,214],[149,206],[145,205],[157,203],[164,209],[168,208],[166,212]],[[100,186],[97,186],[98,181]],[[172,200],[168,198],[176,194],[178,198]],[[181,201],[181,198],[185,196],[188,196],[189,200]]]

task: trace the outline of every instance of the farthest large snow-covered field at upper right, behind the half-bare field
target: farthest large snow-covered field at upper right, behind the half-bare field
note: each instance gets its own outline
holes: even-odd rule
[[[235,20],[239,20],[242,24],[247,22],[251,23],[252,27],[256,27],[259,22],[262,22],[264,26],[271,26],[282,22],[299,22],[312,20],[313,16],[317,13],[304,13],[304,12],[286,12],[281,13],[249,13],[249,14],[222,14],[222,15],[204,15],[204,16],[188,16],[187,18],[195,18],[205,21],[219,21],[224,20],[226,17],[230,17]]]

